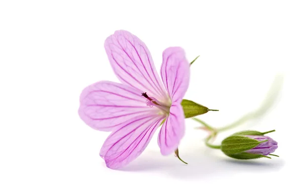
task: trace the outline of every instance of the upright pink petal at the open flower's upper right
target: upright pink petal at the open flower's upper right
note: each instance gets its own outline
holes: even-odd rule
[[[189,63],[181,47],[169,47],[162,53],[160,74],[172,102],[181,103],[189,85]]]

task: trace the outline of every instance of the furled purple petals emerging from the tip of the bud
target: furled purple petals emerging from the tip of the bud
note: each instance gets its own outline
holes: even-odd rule
[[[264,135],[248,135],[246,137],[258,140],[259,142],[267,140],[266,142],[260,143],[255,148],[252,148],[250,150],[245,151],[246,153],[251,154],[259,154],[259,155],[269,155],[270,153],[273,153],[277,148],[277,142],[274,141],[272,138]]]

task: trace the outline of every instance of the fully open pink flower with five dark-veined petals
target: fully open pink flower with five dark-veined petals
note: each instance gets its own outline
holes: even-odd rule
[[[90,127],[111,131],[100,152],[107,167],[120,168],[138,157],[156,129],[162,155],[173,153],[184,136],[181,101],[189,84],[189,63],[180,47],[163,51],[161,78],[145,43],[127,31],[105,41],[111,66],[121,83],[99,81],[80,95],[80,118]]]

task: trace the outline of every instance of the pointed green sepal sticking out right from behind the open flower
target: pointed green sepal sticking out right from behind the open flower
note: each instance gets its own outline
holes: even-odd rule
[[[207,107],[204,107],[187,99],[183,99],[181,105],[183,107],[185,118],[192,118],[198,115],[203,115],[210,111]]]

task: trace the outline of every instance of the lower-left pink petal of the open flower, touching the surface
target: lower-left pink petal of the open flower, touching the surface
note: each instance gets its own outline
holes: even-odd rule
[[[147,147],[164,116],[141,115],[130,119],[112,132],[100,152],[109,168],[125,166]]]

